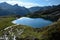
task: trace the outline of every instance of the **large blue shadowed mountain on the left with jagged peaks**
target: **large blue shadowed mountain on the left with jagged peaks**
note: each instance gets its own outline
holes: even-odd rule
[[[18,4],[10,5],[6,2],[0,3],[0,16],[4,15],[26,15],[29,10],[25,7],[18,6]]]

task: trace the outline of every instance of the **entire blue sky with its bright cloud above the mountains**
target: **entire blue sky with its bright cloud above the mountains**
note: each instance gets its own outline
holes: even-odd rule
[[[60,4],[60,0],[0,0],[0,2],[7,2],[12,5],[18,4],[27,8],[33,6],[48,6]]]

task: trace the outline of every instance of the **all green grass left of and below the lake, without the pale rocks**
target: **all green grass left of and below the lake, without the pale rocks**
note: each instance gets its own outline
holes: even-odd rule
[[[11,23],[12,20],[14,20],[15,17],[0,17],[0,35],[3,35],[4,32],[9,32],[10,29],[7,29],[5,31],[1,31],[4,28],[14,25]],[[18,25],[13,26],[13,33],[17,36],[18,33],[16,29],[24,29],[24,32],[21,35],[18,35],[19,38],[26,38],[26,37],[35,37],[39,40],[55,40],[56,38],[59,38],[56,36],[53,37],[53,35],[60,35],[60,21],[54,22],[52,25],[43,27],[43,28],[32,28],[26,25]],[[57,33],[58,32],[58,33]],[[56,34],[55,34],[56,33]],[[52,35],[53,34],[53,35]],[[9,35],[10,36],[10,35]]]

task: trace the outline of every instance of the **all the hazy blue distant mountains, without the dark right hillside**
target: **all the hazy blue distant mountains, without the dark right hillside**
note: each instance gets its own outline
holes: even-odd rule
[[[4,15],[20,15],[20,16],[24,16],[27,15],[29,13],[34,13],[38,10],[42,11],[42,10],[46,10],[51,8],[51,6],[46,6],[46,7],[31,7],[31,8],[25,8],[25,7],[21,7],[18,4],[15,5],[10,5],[6,2],[2,2],[0,3],[0,16],[4,16]]]

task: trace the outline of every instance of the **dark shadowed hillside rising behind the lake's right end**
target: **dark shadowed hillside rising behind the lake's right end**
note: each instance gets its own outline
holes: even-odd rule
[[[40,17],[52,21],[57,21],[60,18],[60,5],[52,6],[52,8],[42,11],[36,11],[33,14],[27,15],[29,17]]]

